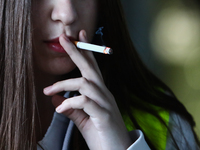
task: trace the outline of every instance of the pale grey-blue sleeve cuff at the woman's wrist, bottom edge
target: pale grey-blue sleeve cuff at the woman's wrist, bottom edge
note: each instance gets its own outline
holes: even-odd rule
[[[140,130],[133,130],[129,132],[133,141],[135,141],[127,150],[150,150],[148,144],[144,139],[144,135]]]

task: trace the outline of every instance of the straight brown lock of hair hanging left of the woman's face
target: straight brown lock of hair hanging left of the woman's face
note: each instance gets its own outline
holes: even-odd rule
[[[35,149],[31,1],[0,2],[0,149]]]

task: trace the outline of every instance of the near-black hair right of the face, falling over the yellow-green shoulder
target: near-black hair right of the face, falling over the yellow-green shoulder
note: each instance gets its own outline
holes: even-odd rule
[[[144,131],[138,124],[133,110],[151,114],[171,134],[170,128],[159,115],[159,111],[151,106],[159,107],[167,112],[177,113],[189,122],[195,140],[199,145],[193,130],[195,122],[192,116],[173,92],[147,69],[138,56],[125,24],[125,16],[123,15],[120,0],[101,1],[101,7],[99,24],[104,26],[104,41],[107,46],[114,49],[114,54],[107,58],[102,55],[97,55],[96,57],[105,83],[115,96],[122,115],[127,115],[135,128]],[[144,134],[146,135],[145,132]],[[147,143],[151,149],[159,149],[156,147],[156,143],[151,142],[151,138],[146,135]],[[171,138],[174,139],[172,135]],[[174,140],[173,142],[175,148],[179,149],[176,141]]]

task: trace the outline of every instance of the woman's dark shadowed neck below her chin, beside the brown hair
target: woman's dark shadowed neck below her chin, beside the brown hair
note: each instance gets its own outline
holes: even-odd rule
[[[38,106],[36,132],[38,141],[44,137],[55,111],[51,97],[44,95],[43,89],[62,79],[63,76],[49,75],[39,71],[35,73],[35,89]]]

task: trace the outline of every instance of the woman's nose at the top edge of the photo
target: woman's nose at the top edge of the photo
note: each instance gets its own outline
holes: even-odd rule
[[[72,24],[77,19],[77,11],[73,0],[56,0],[51,18],[53,21],[60,21],[64,25]]]

